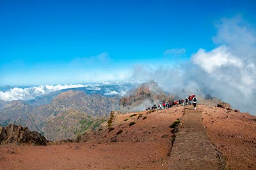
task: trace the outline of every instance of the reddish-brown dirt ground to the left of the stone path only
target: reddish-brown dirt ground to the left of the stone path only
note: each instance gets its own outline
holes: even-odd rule
[[[0,169],[164,169],[170,125],[182,116],[182,109],[118,115],[114,130],[92,134],[82,143],[2,145]],[[135,124],[129,126],[131,122]]]

